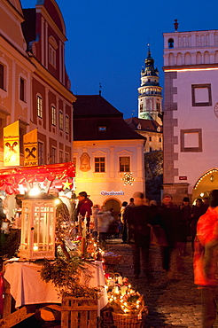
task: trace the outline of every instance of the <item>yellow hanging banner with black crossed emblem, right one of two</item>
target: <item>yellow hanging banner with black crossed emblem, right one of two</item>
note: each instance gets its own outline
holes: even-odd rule
[[[23,136],[24,166],[38,165],[38,137],[37,129],[33,129]]]

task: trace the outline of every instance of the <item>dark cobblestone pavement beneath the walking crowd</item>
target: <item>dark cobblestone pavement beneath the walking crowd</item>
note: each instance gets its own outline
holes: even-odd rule
[[[144,328],[201,327],[200,292],[193,284],[191,242],[187,243],[187,252],[190,255],[173,255],[173,262],[177,261],[181,268],[176,279],[169,277],[161,269],[160,248],[151,247],[152,278],[149,282],[144,274],[139,279],[134,279],[131,245],[122,244],[121,239],[109,239],[106,250],[122,255],[115,270],[122,277],[128,277],[133,287],[144,294],[145,304],[149,308]],[[218,328],[218,319],[214,328]]]

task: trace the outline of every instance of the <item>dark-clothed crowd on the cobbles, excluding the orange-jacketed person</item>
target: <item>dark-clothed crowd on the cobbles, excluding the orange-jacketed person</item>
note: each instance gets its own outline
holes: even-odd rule
[[[148,269],[151,226],[160,226],[166,235],[167,246],[160,246],[162,269],[172,274],[171,257],[176,249],[180,256],[186,256],[187,238],[191,238],[194,254],[194,240],[197,233],[199,217],[206,213],[208,199],[196,199],[194,205],[184,197],[180,206],[175,206],[170,195],[164,195],[160,206],[155,200],[144,198],[142,192],[136,191],[129,202],[121,204],[120,214],[114,216],[113,208],[106,209],[94,205],[87,193],[82,191],[78,196],[78,214],[88,215],[88,226],[92,218],[91,232],[103,246],[106,238],[118,237],[121,233],[122,243],[132,244],[134,277],[141,274],[140,256],[142,256],[144,274],[149,277]],[[93,207],[92,207],[93,206]],[[92,207],[92,212],[91,212]],[[91,215],[92,214],[92,215]],[[175,269],[175,268],[174,268]]]

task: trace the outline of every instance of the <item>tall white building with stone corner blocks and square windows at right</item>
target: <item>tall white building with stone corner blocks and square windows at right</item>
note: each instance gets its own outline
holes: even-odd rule
[[[164,192],[218,189],[218,30],[165,33]]]

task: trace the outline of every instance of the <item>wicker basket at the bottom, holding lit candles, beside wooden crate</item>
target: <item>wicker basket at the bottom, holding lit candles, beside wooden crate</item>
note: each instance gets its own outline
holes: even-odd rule
[[[147,314],[147,308],[144,308],[142,319],[138,319],[138,315],[113,312],[113,322],[117,328],[143,328],[145,316]]]

